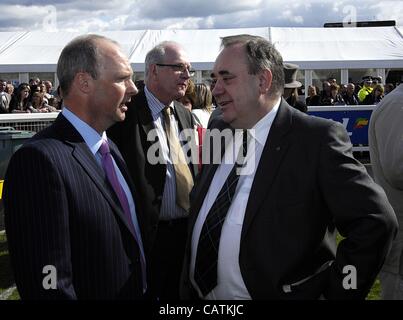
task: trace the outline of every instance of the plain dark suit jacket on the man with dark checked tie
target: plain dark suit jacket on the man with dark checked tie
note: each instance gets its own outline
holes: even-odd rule
[[[225,126],[217,123],[220,129]],[[217,167],[204,166],[192,191],[190,234]],[[346,237],[337,257],[334,226]],[[305,115],[282,100],[241,233],[239,264],[252,299],[317,299],[321,294],[329,299],[364,298],[396,227],[385,193],[353,158],[343,126]],[[192,296],[189,248],[190,243],[184,298]],[[346,265],[357,270],[356,290],[343,288]]]

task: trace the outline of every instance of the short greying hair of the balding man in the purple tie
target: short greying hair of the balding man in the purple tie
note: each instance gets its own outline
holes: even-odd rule
[[[89,34],[74,38],[63,48],[57,62],[57,77],[64,97],[69,94],[77,73],[86,72],[93,79],[98,78],[101,63],[98,41],[108,41],[119,46],[112,39]]]

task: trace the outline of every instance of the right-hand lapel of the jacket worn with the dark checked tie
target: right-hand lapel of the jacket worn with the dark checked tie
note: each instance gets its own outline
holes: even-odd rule
[[[282,99],[252,183],[245,211],[241,241],[244,239],[255,214],[259,211],[262,201],[267,198],[278,168],[281,165],[281,160],[287,152],[289,141],[286,139],[286,134],[291,129],[291,122],[290,107]]]

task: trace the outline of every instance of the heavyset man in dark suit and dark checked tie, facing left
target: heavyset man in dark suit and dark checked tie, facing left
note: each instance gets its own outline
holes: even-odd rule
[[[283,60],[264,38],[223,38],[212,78],[222,110],[212,126],[248,131],[242,144],[235,130],[223,152],[240,144],[247,151],[235,165],[203,165],[192,191],[182,297],[365,298],[397,222],[353,158],[343,126],[281,99]],[[337,256],[335,227],[345,237]]]

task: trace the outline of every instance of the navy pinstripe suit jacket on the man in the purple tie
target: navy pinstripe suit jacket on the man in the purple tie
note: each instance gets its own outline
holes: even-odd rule
[[[135,197],[141,227],[145,209],[119,151],[113,143],[110,149]],[[23,299],[142,296],[139,248],[119,200],[63,115],[14,154],[4,188],[7,240]],[[46,265],[56,267],[56,290],[43,289]]]

